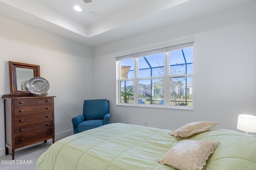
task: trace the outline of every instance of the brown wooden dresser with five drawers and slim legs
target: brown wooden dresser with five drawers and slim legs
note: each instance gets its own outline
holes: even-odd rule
[[[52,139],[54,143],[54,97],[4,98],[6,154]]]

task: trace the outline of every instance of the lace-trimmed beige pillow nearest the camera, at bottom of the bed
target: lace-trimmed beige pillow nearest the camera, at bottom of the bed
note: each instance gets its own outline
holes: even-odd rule
[[[202,170],[206,160],[214,152],[218,141],[193,141],[184,139],[172,147],[157,162],[179,170]]]

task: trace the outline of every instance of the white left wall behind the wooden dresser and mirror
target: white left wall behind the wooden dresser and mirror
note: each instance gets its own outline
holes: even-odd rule
[[[40,65],[56,96],[55,137],[73,134],[72,117],[93,98],[92,49],[0,16],[0,96],[10,94],[8,61]],[[5,154],[4,100],[0,100],[0,155]]]

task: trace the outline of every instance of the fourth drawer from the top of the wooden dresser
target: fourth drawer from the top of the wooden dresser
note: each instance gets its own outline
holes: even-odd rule
[[[52,121],[44,121],[41,123],[34,123],[32,125],[19,126],[15,127],[15,136],[24,135],[27,133],[35,133],[41,130],[51,129],[52,127]]]

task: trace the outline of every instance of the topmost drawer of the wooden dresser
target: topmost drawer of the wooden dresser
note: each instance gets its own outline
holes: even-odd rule
[[[33,105],[44,105],[52,104],[52,98],[26,98],[26,99],[14,99],[14,106],[33,106]]]

